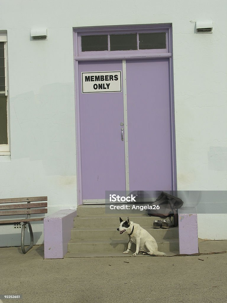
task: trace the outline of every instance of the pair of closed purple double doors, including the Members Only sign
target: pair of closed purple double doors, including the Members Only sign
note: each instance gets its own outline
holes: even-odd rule
[[[169,59],[124,64],[79,62],[84,202],[104,201],[107,190],[174,189]],[[128,140],[121,140],[122,128]]]

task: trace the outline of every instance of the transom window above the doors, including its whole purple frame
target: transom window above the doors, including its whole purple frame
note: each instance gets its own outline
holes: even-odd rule
[[[74,28],[74,59],[171,57],[172,25]]]

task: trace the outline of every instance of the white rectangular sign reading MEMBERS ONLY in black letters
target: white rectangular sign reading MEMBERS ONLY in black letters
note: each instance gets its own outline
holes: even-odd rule
[[[121,71],[81,72],[82,94],[121,92]]]

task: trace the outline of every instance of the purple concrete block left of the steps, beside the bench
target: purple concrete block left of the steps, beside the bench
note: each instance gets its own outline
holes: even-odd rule
[[[44,218],[44,258],[62,259],[68,250],[71,240],[71,229],[77,211],[60,210]]]

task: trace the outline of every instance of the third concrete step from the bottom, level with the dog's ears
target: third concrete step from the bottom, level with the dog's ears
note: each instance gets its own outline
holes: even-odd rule
[[[122,217],[121,217],[122,218]],[[126,220],[126,216],[123,217],[123,220]],[[163,220],[159,217],[149,217],[148,215],[129,215],[130,221],[140,224],[141,227],[150,226],[153,227],[154,220]],[[112,227],[118,228],[120,225],[119,215],[97,215],[97,216],[87,216],[74,218],[74,227]]]

